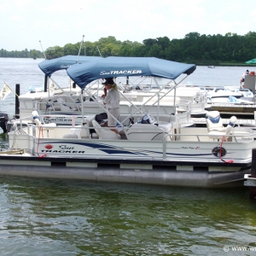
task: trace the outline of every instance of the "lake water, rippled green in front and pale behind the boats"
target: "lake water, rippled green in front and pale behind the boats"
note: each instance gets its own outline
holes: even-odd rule
[[[44,84],[42,60],[0,59],[0,82]],[[247,67],[197,67],[189,82],[239,86]],[[248,68],[249,69],[249,68]],[[250,70],[250,69],[249,69]],[[65,73],[55,80],[67,83]],[[1,102],[14,114],[15,96]],[[0,135],[0,146],[7,135]],[[255,255],[256,202],[242,189],[0,177],[1,255]],[[224,246],[229,252],[224,252]]]

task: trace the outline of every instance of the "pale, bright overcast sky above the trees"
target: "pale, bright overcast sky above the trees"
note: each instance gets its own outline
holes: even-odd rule
[[[0,49],[256,32],[255,0],[8,0],[0,5]],[[40,43],[41,41],[41,43]]]

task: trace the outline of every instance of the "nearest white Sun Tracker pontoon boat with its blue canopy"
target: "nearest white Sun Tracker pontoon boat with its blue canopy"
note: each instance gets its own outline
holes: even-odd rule
[[[193,64],[156,58],[108,57],[74,64],[67,74],[94,99],[87,87],[98,79],[129,73],[163,77],[178,86],[195,68]],[[177,82],[178,78],[182,79]],[[83,112],[84,101],[81,104]],[[142,123],[136,122],[137,116]],[[83,113],[80,125],[73,121],[72,126],[42,124],[37,112],[32,112],[32,117],[36,125],[20,119],[9,132],[9,152],[0,155],[1,174],[237,187],[251,171],[252,148],[256,147],[253,130],[234,128],[236,117],[224,127],[217,112],[207,113],[207,127],[182,127],[176,114],[121,114],[116,119],[119,134],[99,125],[95,114]]]

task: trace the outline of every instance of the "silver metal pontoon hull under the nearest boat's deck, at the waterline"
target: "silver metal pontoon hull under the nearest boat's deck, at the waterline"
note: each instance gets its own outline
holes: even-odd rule
[[[194,188],[243,186],[250,164],[200,164],[164,160],[70,159],[0,156],[0,174],[21,177],[144,183]],[[10,164],[11,163],[11,164]],[[218,170],[218,171],[217,171]]]

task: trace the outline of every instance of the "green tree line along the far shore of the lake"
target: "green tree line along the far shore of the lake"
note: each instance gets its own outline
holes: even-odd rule
[[[226,33],[224,36],[201,35],[189,32],[181,39],[163,38],[144,39],[143,43],[126,40],[121,42],[113,36],[89,41],[65,44],[63,47],[49,47],[44,53],[37,49],[22,51],[0,50],[0,57],[54,59],[64,55],[88,56],[137,56],[157,57],[169,61],[195,63],[197,65],[218,65],[222,62],[244,63],[256,57],[256,32],[247,32],[244,36]]]

